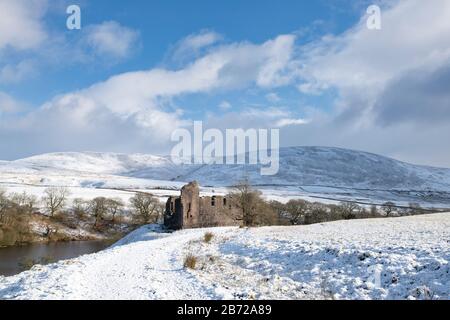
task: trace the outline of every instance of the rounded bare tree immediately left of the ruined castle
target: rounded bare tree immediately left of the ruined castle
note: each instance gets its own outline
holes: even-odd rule
[[[156,223],[164,212],[162,203],[147,193],[136,193],[130,199],[135,214],[141,218],[143,223]]]

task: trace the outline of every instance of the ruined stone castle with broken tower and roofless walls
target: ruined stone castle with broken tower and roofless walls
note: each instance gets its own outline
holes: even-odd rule
[[[179,197],[166,203],[164,225],[173,230],[219,226],[240,226],[241,211],[231,199],[222,196],[200,197],[197,182],[181,189]]]

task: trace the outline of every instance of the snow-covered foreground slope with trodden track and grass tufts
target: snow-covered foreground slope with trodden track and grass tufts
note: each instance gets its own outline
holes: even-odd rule
[[[173,234],[1,278],[2,299],[450,299],[450,213]],[[196,270],[183,268],[194,254]]]

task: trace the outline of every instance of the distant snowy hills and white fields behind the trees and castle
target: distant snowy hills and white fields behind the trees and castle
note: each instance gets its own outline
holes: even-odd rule
[[[145,154],[67,152],[1,161],[0,187],[41,195],[48,186],[65,186],[73,198],[101,194],[124,200],[133,190],[142,190],[164,200],[192,180],[200,182],[203,194],[223,194],[227,186],[247,175],[267,198],[282,202],[393,201],[450,208],[450,169],[417,166],[360,151],[284,148],[276,176],[259,172],[258,166],[250,165],[175,165],[169,157]]]

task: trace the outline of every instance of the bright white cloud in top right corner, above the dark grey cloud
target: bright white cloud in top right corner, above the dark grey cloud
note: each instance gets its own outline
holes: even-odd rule
[[[342,35],[302,47],[299,88],[310,94],[335,88],[341,106],[371,109],[402,74],[448,64],[449,16],[446,0],[395,2],[383,9],[381,30],[369,30],[364,17]]]

